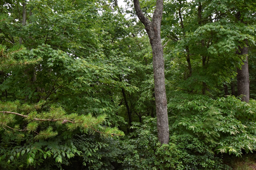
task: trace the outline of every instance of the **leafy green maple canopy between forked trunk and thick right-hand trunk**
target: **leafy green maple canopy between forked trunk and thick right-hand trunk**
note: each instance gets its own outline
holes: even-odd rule
[[[227,95],[227,86],[246,64],[246,55],[236,54],[239,47],[246,46],[245,39],[249,46],[254,44],[253,2],[173,0],[164,6],[164,52],[179,72],[176,84],[189,93]],[[247,24],[236,19],[237,11]]]

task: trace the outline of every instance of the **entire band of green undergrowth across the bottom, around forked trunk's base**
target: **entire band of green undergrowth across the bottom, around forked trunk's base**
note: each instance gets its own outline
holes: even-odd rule
[[[121,138],[81,134],[62,127],[51,139],[17,139],[4,135],[1,163],[5,169],[231,169],[225,155],[241,157],[255,150],[255,100],[233,96],[212,99],[179,94],[170,99],[170,142],[160,145],[156,118],[133,122]]]

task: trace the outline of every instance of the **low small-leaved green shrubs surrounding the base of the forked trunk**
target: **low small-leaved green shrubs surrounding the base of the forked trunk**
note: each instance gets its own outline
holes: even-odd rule
[[[156,119],[133,123],[134,139],[123,142],[124,169],[230,169],[212,152],[213,146],[191,134],[172,134],[168,145],[156,137]],[[207,161],[206,161],[207,160]]]

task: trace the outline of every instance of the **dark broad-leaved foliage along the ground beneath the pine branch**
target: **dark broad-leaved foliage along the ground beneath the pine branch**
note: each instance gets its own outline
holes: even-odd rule
[[[26,140],[22,140],[10,145],[1,144],[0,166],[5,169],[110,169],[110,161],[116,156],[116,149],[110,146],[114,144],[113,139],[99,142],[91,135],[74,135],[74,132],[63,134],[55,139],[37,142],[24,143]],[[6,143],[8,138],[5,137],[2,143]],[[22,143],[23,146],[20,146]]]

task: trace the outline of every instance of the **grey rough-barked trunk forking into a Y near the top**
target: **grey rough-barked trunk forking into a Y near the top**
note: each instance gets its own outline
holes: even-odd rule
[[[152,21],[142,13],[138,0],[133,0],[133,3],[138,18],[145,25],[152,48],[158,140],[161,144],[167,144],[169,142],[169,124],[165,91],[163,46],[160,34],[163,0],[156,1]]]

